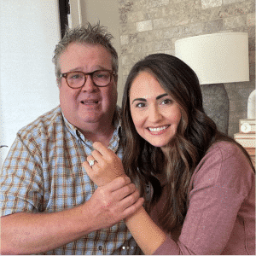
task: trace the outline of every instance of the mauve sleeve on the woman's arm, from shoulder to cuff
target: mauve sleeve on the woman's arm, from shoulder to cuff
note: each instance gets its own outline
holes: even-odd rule
[[[253,183],[247,158],[232,147],[216,146],[201,160],[191,178],[181,235],[177,243],[167,236],[154,255],[217,255],[224,251]]]

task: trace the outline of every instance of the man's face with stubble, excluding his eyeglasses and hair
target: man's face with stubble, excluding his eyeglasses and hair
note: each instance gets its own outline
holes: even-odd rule
[[[60,66],[61,73],[113,70],[111,54],[99,44],[70,44],[60,57]],[[80,130],[88,130],[93,124],[108,125],[117,102],[115,80],[112,78],[106,87],[97,87],[87,76],[82,88],[72,89],[62,78],[60,102],[66,119]]]

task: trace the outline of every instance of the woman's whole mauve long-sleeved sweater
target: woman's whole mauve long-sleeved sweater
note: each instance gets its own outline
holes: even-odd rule
[[[165,189],[151,218],[165,203]],[[189,184],[183,226],[154,255],[255,255],[255,174],[235,144],[212,145]]]

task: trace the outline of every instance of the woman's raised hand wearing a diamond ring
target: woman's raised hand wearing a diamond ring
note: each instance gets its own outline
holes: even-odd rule
[[[93,143],[93,147],[96,150],[92,151],[91,155],[87,157],[83,166],[90,179],[97,186],[110,183],[116,177],[126,176],[122,160],[111,149],[98,142]],[[95,160],[93,166],[89,165],[91,160]]]

